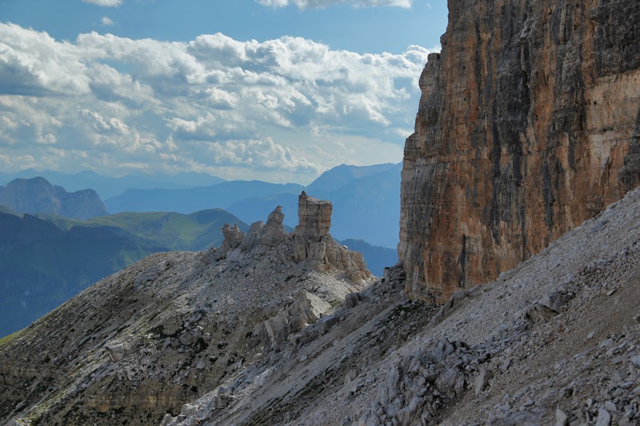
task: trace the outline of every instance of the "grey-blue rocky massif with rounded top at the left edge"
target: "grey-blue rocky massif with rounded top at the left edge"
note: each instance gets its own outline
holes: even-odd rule
[[[44,177],[15,179],[0,186],[0,205],[20,213],[52,213],[77,219],[104,216],[105,205],[93,189],[68,193]]]

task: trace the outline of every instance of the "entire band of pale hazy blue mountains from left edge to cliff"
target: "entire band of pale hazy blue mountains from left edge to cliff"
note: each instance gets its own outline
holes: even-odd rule
[[[286,226],[298,222],[297,197],[310,195],[335,205],[333,234],[338,239],[361,239],[375,246],[396,249],[399,241],[400,172],[402,165],[339,165],[327,170],[311,184],[269,184],[263,181],[224,181],[208,174],[129,175],[102,177],[94,172],[64,174],[24,170],[16,175],[41,173],[69,188],[93,188],[110,213],[178,212],[226,209],[248,224],[262,220],[281,205]],[[0,179],[3,175],[0,174]],[[10,175],[4,174],[5,177]],[[192,184],[194,186],[187,186]],[[96,185],[91,186],[91,185]],[[65,185],[63,185],[65,186]],[[65,186],[67,188],[67,186]],[[68,216],[68,214],[67,214]]]

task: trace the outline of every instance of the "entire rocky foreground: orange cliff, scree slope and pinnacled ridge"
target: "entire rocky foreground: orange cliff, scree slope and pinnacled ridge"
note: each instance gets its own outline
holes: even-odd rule
[[[371,277],[302,193],[293,233],[276,208],[1,339],[0,420],[639,425],[640,7],[448,6],[396,266]]]

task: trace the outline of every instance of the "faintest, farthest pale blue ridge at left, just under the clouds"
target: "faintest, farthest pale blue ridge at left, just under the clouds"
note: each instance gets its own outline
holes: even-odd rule
[[[103,200],[133,188],[192,188],[194,186],[211,186],[225,181],[225,179],[211,174],[197,172],[178,174],[135,173],[127,174],[123,177],[107,177],[88,170],[78,173],[63,173],[51,170],[39,172],[28,169],[16,173],[0,173],[0,185],[4,185],[13,179],[29,179],[36,176],[44,177],[53,184],[63,186],[67,191],[92,188]]]

